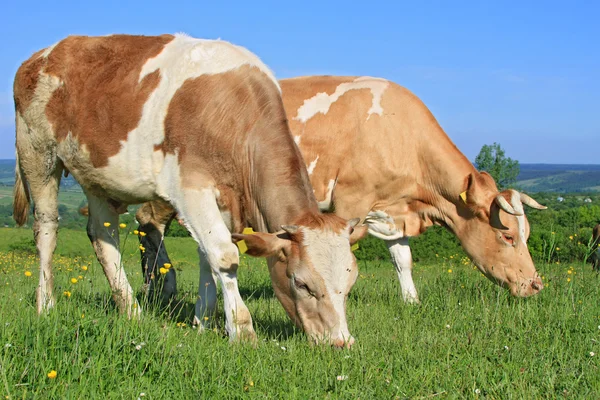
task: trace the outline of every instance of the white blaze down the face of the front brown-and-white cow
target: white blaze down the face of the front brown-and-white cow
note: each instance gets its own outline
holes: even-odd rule
[[[331,334],[333,338],[338,334],[348,339],[350,332],[346,321],[344,300],[350,279],[355,276],[348,271],[353,266],[349,232],[346,230],[342,234],[336,234],[331,231],[304,229],[303,233],[302,244],[306,248],[307,256],[316,273],[323,279],[333,309],[339,318],[340,331]]]

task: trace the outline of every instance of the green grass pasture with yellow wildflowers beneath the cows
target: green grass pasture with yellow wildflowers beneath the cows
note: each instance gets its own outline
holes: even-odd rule
[[[391,263],[361,262],[348,300],[357,342],[336,350],[311,346],[293,328],[266,265],[244,257],[240,287],[259,336],[253,347],[228,343],[222,313],[214,331],[191,327],[198,268],[189,238],[167,238],[181,307],[171,315],[146,307],[140,321],[128,321],[85,233],[68,230],[55,255],[56,308],[38,317],[36,257],[10,249],[26,249],[31,237],[0,229],[6,398],[600,398],[600,282],[586,265],[542,265],[546,289],[514,299],[464,260],[417,264],[422,303],[411,306],[399,299]],[[139,289],[133,235],[123,254]]]

